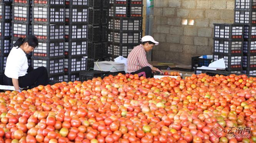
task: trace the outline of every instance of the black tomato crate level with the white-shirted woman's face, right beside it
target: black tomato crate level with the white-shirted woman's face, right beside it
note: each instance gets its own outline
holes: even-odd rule
[[[38,41],[38,46],[32,52],[33,57],[63,57],[64,41]]]

